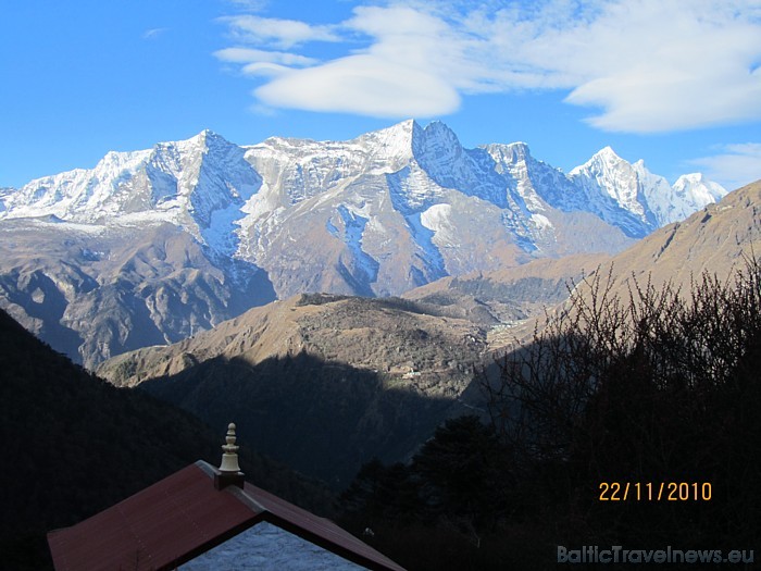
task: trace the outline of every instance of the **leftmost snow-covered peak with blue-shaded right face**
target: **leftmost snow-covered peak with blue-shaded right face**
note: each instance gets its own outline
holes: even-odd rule
[[[91,170],[32,181],[9,196],[3,218],[55,215],[90,224],[164,221],[203,241],[213,213],[242,206],[261,183],[244,154],[208,129],[151,149],[110,151]]]

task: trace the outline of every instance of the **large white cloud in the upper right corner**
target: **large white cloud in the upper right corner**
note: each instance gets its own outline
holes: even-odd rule
[[[612,4],[583,33],[596,39],[576,51],[579,62],[562,62],[579,78],[567,101],[602,109],[590,120],[599,128],[653,133],[761,119],[761,74],[751,73],[761,25],[721,2]],[[569,30],[561,44],[578,34]]]

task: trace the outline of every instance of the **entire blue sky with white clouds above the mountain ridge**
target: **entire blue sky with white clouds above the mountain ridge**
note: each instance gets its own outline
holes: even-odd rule
[[[0,8],[0,186],[211,128],[346,139],[414,117],[564,171],[761,178],[761,1],[24,0]]]

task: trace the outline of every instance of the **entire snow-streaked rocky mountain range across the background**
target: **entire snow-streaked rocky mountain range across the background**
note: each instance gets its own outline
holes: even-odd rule
[[[614,253],[722,193],[610,149],[565,175],[438,122],[248,147],[205,131],[0,189],[0,306],[92,367],[300,293],[396,296]]]

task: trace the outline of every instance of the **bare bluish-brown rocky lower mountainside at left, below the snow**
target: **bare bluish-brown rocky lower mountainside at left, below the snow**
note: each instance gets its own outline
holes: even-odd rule
[[[219,266],[192,236],[138,227],[0,224],[0,300],[27,330],[87,367],[177,342],[274,299],[263,272]]]

